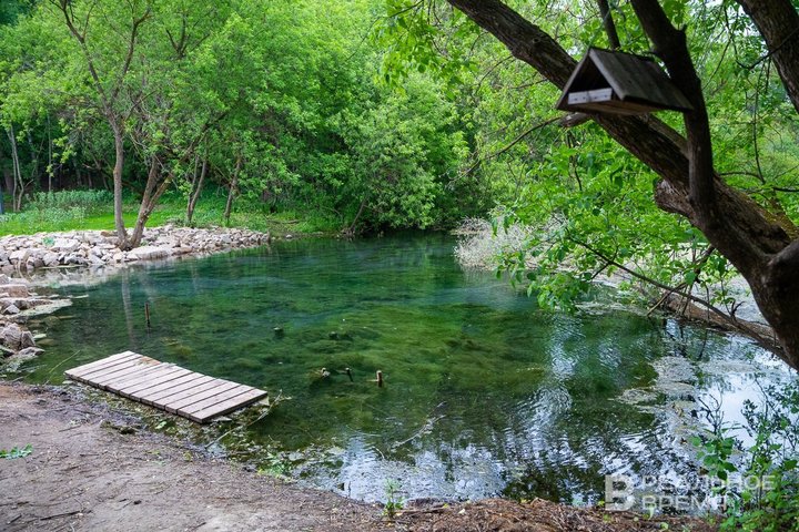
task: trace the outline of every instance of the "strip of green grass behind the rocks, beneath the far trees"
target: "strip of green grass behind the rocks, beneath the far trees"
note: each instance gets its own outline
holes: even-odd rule
[[[225,196],[222,191],[208,191],[198,203],[192,225],[196,227],[224,225]],[[135,224],[138,201],[128,196],[123,202],[125,227]],[[148,221],[148,226],[168,223],[185,225],[185,200],[176,194],[164,195]],[[270,213],[260,202],[240,198],[234,203],[230,226],[275,235],[335,233],[343,224],[335,216],[320,211],[284,209]],[[113,197],[108,191],[62,191],[38,193],[22,212],[0,215],[0,236],[34,233],[114,228]]]

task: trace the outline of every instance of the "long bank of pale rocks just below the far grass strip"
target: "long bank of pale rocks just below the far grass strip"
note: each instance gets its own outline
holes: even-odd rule
[[[183,255],[205,255],[269,244],[269,233],[213,227],[198,229],[164,225],[145,229],[142,245],[129,252],[117,247],[108,231],[38,233],[0,238],[0,270],[32,270],[59,266],[119,266]]]

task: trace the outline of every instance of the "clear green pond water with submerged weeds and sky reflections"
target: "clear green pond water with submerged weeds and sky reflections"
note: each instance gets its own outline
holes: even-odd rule
[[[788,378],[735,336],[624,310],[540,310],[462,270],[454,245],[281,242],[58,286],[73,304],[39,321],[51,345],[30,379],[131,349],[291,397],[247,436],[323,488],[384,500],[392,479],[406,499],[590,502],[606,473],[696,470],[685,438],[698,399],[735,421],[759,385]]]

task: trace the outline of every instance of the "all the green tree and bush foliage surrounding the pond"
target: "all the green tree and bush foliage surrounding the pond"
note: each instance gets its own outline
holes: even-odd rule
[[[649,53],[651,32],[635,2],[610,2],[603,18],[604,3],[512,7],[575,55],[588,45]],[[790,235],[799,219],[799,124],[779,58],[746,3],[663,7],[674,24],[686,25],[712,170],[742,193],[746,201],[735,206],[755,208]],[[122,247],[138,244],[150,216],[196,223],[202,213],[200,223],[235,223],[239,209],[251,224],[312,217],[313,228],[351,234],[494,216],[530,228],[504,267],[532,283],[544,305],[573,307],[597,275],[624,269],[746,329],[727,287],[737,248],[718,235],[709,242],[710,226],[685,201],[658,208],[653,195],[663,203],[663,176],[671,170],[635,149],[664,127],[682,132],[681,116],[659,113],[663,127],[645,121],[646,135],[631,141],[609,121],[568,126],[553,109],[557,72],[517,61],[514,54],[535,66],[527,52],[508,51],[509,37],[502,43],[469,20],[479,23],[481,12],[502,6],[3,2],[7,204],[36,208],[37,193],[62,188],[112,191],[108,205]],[[680,185],[687,168],[676,174],[666,183]],[[159,215],[164,195],[170,213]],[[3,231],[11,227],[20,224]]]

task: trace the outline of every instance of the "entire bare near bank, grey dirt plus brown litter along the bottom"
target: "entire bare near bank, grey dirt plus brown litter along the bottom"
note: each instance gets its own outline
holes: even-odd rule
[[[0,531],[711,531],[535,500],[383,509],[259,475],[58,387],[0,382]],[[664,523],[667,523],[666,525]]]

